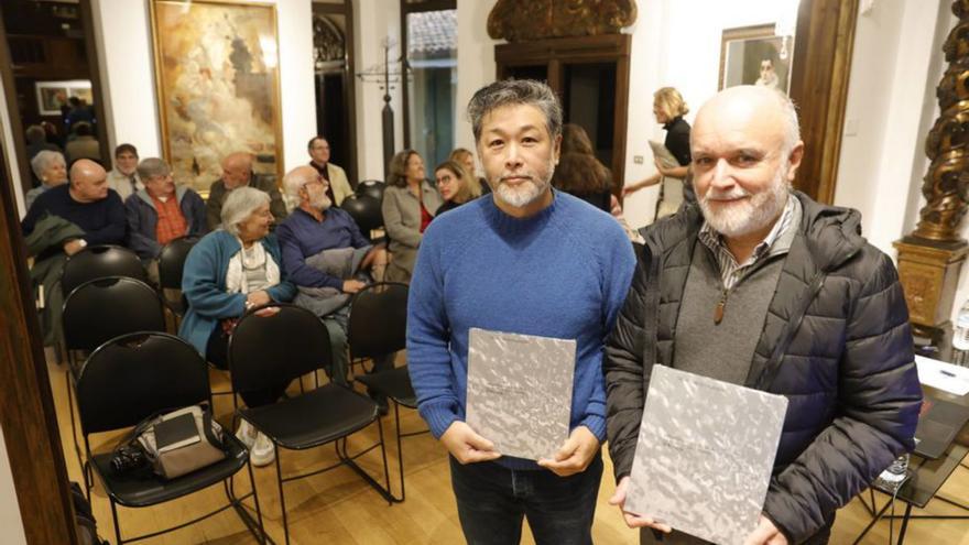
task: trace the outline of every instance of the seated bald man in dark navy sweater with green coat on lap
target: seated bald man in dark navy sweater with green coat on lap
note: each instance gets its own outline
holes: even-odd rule
[[[101,165],[79,160],[70,167],[70,183],[44,192],[21,222],[28,254],[36,258],[31,279],[35,287],[43,286],[40,312],[45,345],[59,338],[66,296],[61,293],[61,272],[67,257],[88,244],[124,242],[124,205],[108,188],[106,177]]]

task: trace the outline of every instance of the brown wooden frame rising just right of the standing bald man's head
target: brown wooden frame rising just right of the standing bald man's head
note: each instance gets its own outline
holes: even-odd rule
[[[801,2],[791,98],[798,106],[805,154],[795,187],[831,204],[841,154],[857,0]]]

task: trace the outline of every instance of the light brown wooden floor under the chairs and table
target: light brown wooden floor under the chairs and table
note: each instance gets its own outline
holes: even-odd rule
[[[64,371],[50,364],[51,382],[61,424],[61,437],[72,480],[81,482],[77,457],[70,439],[70,424],[67,408],[67,391]],[[226,378],[213,373],[214,391],[226,389]],[[228,422],[231,402],[228,396],[216,396],[216,413],[220,421]],[[396,487],[396,448],[393,444],[393,416],[383,418],[384,436],[388,442],[388,461],[391,464],[391,481]],[[416,412],[402,410],[402,427],[406,430],[425,428]],[[377,427],[371,426],[351,439],[350,448],[366,446],[375,439]],[[116,436],[96,436],[95,450],[111,448]],[[460,544],[464,538],[458,523],[454,495],[450,490],[447,457],[444,449],[429,436],[418,435],[405,438],[404,469],[407,499],[403,503],[388,505],[371,488],[348,468],[339,468],[308,479],[286,484],[286,505],[288,508],[290,536],[294,544]],[[323,447],[309,451],[283,451],[284,473],[322,468],[336,460],[333,448]],[[382,480],[382,464],[379,450],[371,451],[360,459],[371,475]],[[283,543],[282,519],[280,514],[279,490],[275,482],[275,466],[254,468],[260,503],[266,531],[276,543]],[[607,503],[614,483],[611,478],[612,466],[606,459],[606,472],[599,490],[596,521],[592,527],[598,544],[635,544],[636,533],[625,527],[616,508]],[[244,470],[237,478],[237,490],[244,493],[250,489]],[[396,490],[396,488],[395,488]],[[957,469],[941,494],[963,504],[969,503],[969,469]],[[885,498],[878,495],[881,503]],[[156,508],[119,508],[122,536],[133,537],[155,530],[188,521],[222,504],[222,488],[211,487],[188,498],[165,503]],[[111,512],[104,492],[94,491],[94,512],[102,537],[115,543]],[[899,503],[899,514],[904,506]],[[927,513],[959,514],[955,508],[933,501]],[[919,513],[916,511],[916,513]],[[850,544],[870,521],[864,508],[856,499],[838,513],[832,544]],[[895,535],[899,525],[894,527]],[[879,522],[862,543],[884,544],[888,539],[888,521]],[[237,544],[257,543],[232,510],[225,511],[213,519],[188,526],[171,534],[145,539],[145,544]],[[525,531],[523,543],[533,544],[531,534]],[[914,545],[969,545],[969,521],[924,520],[908,526],[905,543]]]

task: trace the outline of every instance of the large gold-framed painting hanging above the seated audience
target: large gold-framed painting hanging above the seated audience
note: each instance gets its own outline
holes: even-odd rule
[[[151,0],[162,152],[175,181],[204,197],[221,159],[253,155],[257,175],[282,177],[275,6]]]

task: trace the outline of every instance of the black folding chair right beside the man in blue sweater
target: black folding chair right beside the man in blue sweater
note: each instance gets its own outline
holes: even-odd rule
[[[350,361],[388,356],[406,348],[407,335],[407,286],[399,283],[380,283],[367,286],[353,296],[347,327],[347,344],[350,347]],[[355,378],[357,382],[378,395],[384,395],[394,404],[396,424],[398,469],[401,475],[401,495],[395,501],[404,501],[404,453],[402,437],[426,434],[401,432],[400,406],[417,408],[417,395],[411,386],[407,366],[375,371]]]

